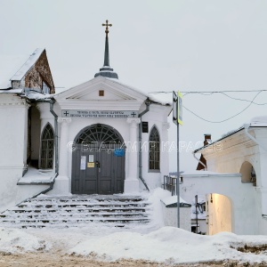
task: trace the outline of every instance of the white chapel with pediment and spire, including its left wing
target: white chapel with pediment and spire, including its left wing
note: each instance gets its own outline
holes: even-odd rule
[[[41,193],[138,193],[169,174],[171,105],[122,84],[104,65],[55,93],[44,49],[0,67],[0,212]]]

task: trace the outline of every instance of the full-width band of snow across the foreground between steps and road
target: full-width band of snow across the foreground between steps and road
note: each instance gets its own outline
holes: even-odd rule
[[[158,216],[159,196],[166,197],[160,190],[150,197]],[[229,232],[202,236],[174,227],[160,227],[161,223],[158,220],[158,227],[155,224],[151,227],[135,225],[127,229],[101,223],[90,224],[87,228],[68,229],[0,228],[0,254],[47,252],[59,256],[85,256],[103,262],[116,262],[122,258],[142,259],[163,263],[165,266],[225,260],[252,265],[263,263],[267,266],[267,236],[237,236]],[[241,252],[239,247],[247,251]],[[254,247],[256,253],[248,252],[249,247]]]

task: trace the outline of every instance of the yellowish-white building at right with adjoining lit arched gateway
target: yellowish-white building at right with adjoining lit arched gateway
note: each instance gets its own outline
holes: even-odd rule
[[[206,196],[207,234],[267,234],[267,117],[194,153],[205,158],[206,171],[182,174],[182,198]]]

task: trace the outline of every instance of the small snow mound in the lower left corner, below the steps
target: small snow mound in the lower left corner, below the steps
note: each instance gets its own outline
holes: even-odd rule
[[[0,228],[0,254],[48,250],[49,243],[17,229]]]

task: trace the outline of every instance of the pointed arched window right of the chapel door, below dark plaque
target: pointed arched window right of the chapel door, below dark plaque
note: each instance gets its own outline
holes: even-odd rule
[[[159,170],[160,166],[160,150],[159,150],[159,134],[155,126],[150,132],[150,170]]]

